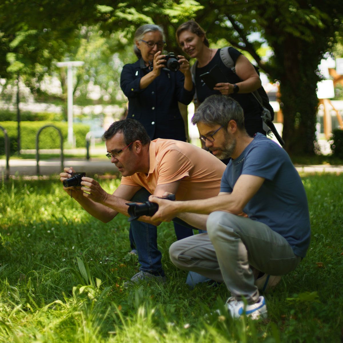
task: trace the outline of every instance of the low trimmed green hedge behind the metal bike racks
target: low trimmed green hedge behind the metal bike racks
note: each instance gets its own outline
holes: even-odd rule
[[[21,149],[36,149],[36,135],[40,128],[46,125],[54,125],[60,129],[63,143],[68,138],[68,123],[56,121],[21,121],[20,122],[20,147]],[[10,154],[17,152],[17,122],[3,121],[0,126],[7,130],[10,139]],[[86,146],[86,134],[90,131],[89,125],[74,123],[74,136],[76,147]],[[59,149],[60,135],[54,128],[45,128],[39,134],[39,149]],[[0,130],[0,155],[5,154],[5,140],[3,131]]]

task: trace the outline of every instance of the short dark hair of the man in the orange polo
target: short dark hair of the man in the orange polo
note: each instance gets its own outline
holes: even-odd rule
[[[115,121],[103,134],[103,141],[111,139],[117,132],[123,134],[125,145],[129,145],[135,141],[141,141],[142,145],[150,143],[150,137],[144,129],[144,126],[137,120],[126,118]],[[129,146],[129,149],[132,149],[132,145]]]

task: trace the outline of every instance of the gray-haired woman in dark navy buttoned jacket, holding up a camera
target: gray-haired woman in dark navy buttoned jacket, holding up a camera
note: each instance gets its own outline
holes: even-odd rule
[[[138,61],[123,67],[120,87],[129,99],[127,117],[141,122],[151,140],[186,141],[178,102],[188,105],[195,86],[185,57],[177,56],[179,70],[166,68],[166,55],[162,53],[164,45],[160,26],[140,26],[134,35],[133,48]]]

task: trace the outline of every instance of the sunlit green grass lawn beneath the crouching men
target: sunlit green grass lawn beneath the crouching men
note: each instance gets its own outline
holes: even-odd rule
[[[159,227],[167,283],[124,289],[138,271],[128,223],[95,220],[57,178],[0,187],[0,342],[341,342],[342,177],[303,175],[312,225],[306,258],[265,294],[269,317],[211,314],[225,285],[190,290],[169,261],[173,225]],[[101,180],[113,192],[118,180]]]

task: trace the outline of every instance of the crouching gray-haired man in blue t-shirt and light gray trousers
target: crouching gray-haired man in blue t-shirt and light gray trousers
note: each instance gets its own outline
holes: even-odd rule
[[[180,269],[224,281],[232,294],[226,303],[232,317],[265,318],[267,307],[259,295],[257,274],[260,271],[267,279],[294,270],[310,243],[303,184],[279,145],[260,133],[249,137],[243,110],[232,98],[206,98],[192,122],[216,157],[232,158],[220,193],[206,200],[175,202],[151,196],[149,200],[159,205],[152,219],[178,216],[207,229],[171,245],[171,261]]]

